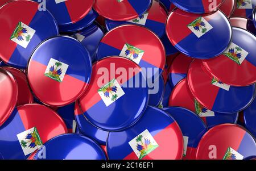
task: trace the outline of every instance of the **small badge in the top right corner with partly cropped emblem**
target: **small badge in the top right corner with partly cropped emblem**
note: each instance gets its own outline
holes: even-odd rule
[[[252,17],[254,7],[256,7],[256,0],[236,0],[236,10],[232,16],[242,16],[246,18]]]

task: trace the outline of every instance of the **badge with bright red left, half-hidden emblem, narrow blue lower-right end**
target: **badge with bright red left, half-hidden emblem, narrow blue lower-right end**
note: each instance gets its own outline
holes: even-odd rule
[[[223,114],[208,110],[201,105],[195,97],[193,97],[191,90],[188,87],[187,79],[181,80],[174,87],[170,96],[169,106],[180,106],[191,110],[203,119],[208,128],[222,123],[237,123],[238,119],[238,112],[233,114]]]

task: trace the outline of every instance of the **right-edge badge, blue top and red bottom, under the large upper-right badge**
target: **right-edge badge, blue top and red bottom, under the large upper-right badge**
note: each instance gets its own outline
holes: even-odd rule
[[[232,86],[249,86],[256,82],[256,37],[241,28],[233,27],[232,43],[226,51],[203,60],[208,72],[219,81]]]

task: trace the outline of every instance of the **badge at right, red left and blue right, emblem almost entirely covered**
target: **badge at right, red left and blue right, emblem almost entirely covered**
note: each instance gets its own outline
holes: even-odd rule
[[[187,80],[196,100],[214,112],[242,111],[255,97],[255,85],[234,87],[224,84],[211,76],[200,60],[191,63]]]

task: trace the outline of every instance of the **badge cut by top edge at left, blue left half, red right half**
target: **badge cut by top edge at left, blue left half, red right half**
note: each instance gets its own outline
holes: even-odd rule
[[[93,3],[94,0],[46,0],[46,8],[52,13],[57,24],[63,26],[83,19],[92,9]]]

